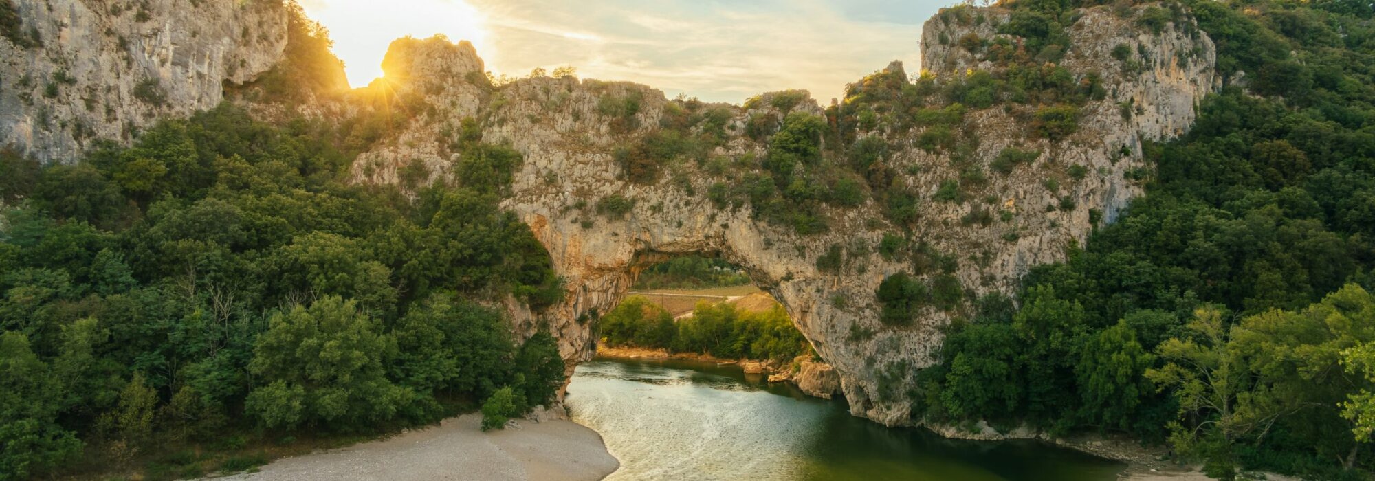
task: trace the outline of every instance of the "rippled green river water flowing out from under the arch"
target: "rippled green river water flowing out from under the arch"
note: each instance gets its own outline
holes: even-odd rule
[[[619,481],[1110,481],[1123,467],[1040,443],[883,427],[714,363],[597,359],[578,366],[568,405],[620,459],[608,478]]]

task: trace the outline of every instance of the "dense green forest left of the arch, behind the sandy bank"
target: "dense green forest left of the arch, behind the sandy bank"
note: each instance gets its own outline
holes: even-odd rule
[[[562,295],[500,186],[353,186],[341,135],[226,104],[72,165],[0,155],[0,478],[194,477],[551,399],[554,339],[488,306]]]

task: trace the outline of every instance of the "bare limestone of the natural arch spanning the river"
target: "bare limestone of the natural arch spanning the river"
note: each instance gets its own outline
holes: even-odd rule
[[[968,69],[998,69],[956,40],[971,33],[1005,37],[996,32],[1009,12],[964,7],[960,15],[947,14],[927,22],[921,38],[923,67],[932,81],[943,85],[960,81]],[[1140,180],[1133,179],[1145,172],[1143,140],[1182,133],[1194,122],[1195,103],[1213,89],[1214,47],[1192,25],[1170,23],[1155,33],[1138,27],[1130,15],[1092,8],[1081,12],[1068,36],[1072,47],[1060,65],[1077,80],[1100,76],[1103,87],[1099,98],[1079,109],[1078,129],[1046,140],[1033,133],[1034,107],[967,109],[958,129],[978,140],[960,154],[961,162],[972,159],[990,172],[1006,147],[1040,154],[1011,172],[969,183],[962,192],[969,201],[923,201],[908,227],[894,225],[884,208],[869,199],[858,208],[824,208],[829,230],[799,235],[792,227],[760,220],[748,203],[720,206],[708,199],[716,184],[740,181],[733,170],[674,161],[657,180],[645,183],[627,180],[617,162],[619,150],[624,157],[624,146],[674,124],[685,110],[711,113],[703,117],[723,125],[725,139],[711,159],[763,158],[769,139],[747,135],[748,125],[789,111],[822,115],[814,100],[789,106],[773,102],[780,95],[764,95],[748,107],[698,104],[667,100],[644,85],[572,77],[535,77],[494,88],[480,76],[483,63],[470,45],[441,38],[393,45],[388,63],[404,74],[392,78],[389,71],[389,87],[421,99],[424,107],[402,132],[360,155],[353,172],[370,183],[396,183],[402,169],[422,172],[426,181],[447,181],[451,166],[462,159],[462,153],[447,146],[463,120],[472,118],[483,142],[507,143],[524,154],[503,208],[529,224],[566,280],[565,301],[547,312],[510,304],[520,331],[549,327],[565,359],[587,360],[595,349],[597,315],[620,302],[641,269],[675,254],[718,254],[747,268],[786,306],[835,367],[854,414],[887,425],[910,423],[913,375],[935,361],[942,327],[971,313],[969,298],[1013,294],[1030,267],[1063,260],[1066,249],[1084,242],[1094,223],[1115,219],[1141,192]],[[1114,52],[1122,48],[1140,59],[1132,69]],[[901,65],[888,73],[902,74]],[[620,107],[627,102],[634,109]],[[704,124],[692,132],[703,132]],[[896,172],[895,186],[931,199],[968,168],[957,168],[953,153],[920,148],[927,129],[879,125],[858,136],[891,146],[886,162]],[[826,161],[842,162],[835,155]],[[598,214],[597,205],[616,195],[632,206],[623,216]],[[886,234],[905,235],[953,258],[950,276],[965,290],[965,301],[943,309],[925,306],[910,326],[883,324],[879,284],[892,273],[914,271],[912,257],[877,253]],[[824,272],[817,258],[833,246],[844,253],[842,265]]]

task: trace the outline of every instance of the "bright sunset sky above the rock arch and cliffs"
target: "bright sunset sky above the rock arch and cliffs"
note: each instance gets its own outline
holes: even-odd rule
[[[954,0],[301,0],[334,38],[349,82],[381,77],[392,40],[469,40],[496,74],[569,65],[708,102],[802,88],[822,104],[902,60]]]

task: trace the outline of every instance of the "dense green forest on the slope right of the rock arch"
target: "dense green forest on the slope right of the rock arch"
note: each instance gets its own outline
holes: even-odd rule
[[[1008,1],[1008,29],[1056,32],[1092,3]],[[931,422],[1167,443],[1218,478],[1367,478],[1375,5],[1198,0],[1140,22],[1185,8],[1217,43],[1225,84],[1244,88],[1210,95],[1188,135],[1148,146],[1148,194],[1067,261],[1033,269],[1016,305],[978,300],[906,394]]]

